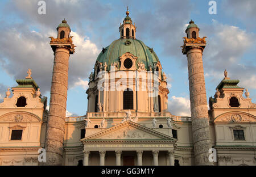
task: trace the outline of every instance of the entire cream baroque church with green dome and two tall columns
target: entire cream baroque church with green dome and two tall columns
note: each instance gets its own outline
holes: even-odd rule
[[[0,165],[256,165],[256,104],[226,70],[207,102],[206,41],[199,30],[191,20],[182,47],[191,117],[168,112],[166,74],[154,50],[137,39],[128,10],[119,39],[96,59],[86,115],[65,117],[69,56],[76,46],[63,20],[57,38],[50,37],[49,111],[30,69],[0,103]],[[46,161],[40,161],[44,153]]]

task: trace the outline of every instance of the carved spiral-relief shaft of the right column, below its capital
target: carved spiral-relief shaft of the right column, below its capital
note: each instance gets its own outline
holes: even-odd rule
[[[207,96],[204,82],[203,47],[187,47],[189,95],[196,165],[213,165],[209,162],[210,129]]]

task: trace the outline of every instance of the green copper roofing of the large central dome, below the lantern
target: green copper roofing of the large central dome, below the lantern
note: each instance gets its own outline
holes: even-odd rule
[[[159,59],[152,48],[147,47],[141,40],[138,39],[118,39],[114,40],[108,47],[102,49],[97,61],[102,62],[103,65],[108,65],[107,70],[110,70],[111,64],[119,62],[119,57],[122,54],[130,52],[135,57],[138,57],[137,63],[143,62],[145,69],[149,70],[149,66],[153,68]],[[138,65],[136,66],[138,69]]]

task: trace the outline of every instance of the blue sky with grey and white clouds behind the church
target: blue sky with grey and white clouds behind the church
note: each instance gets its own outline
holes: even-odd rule
[[[85,115],[88,76],[102,47],[118,39],[126,6],[137,26],[136,37],[154,48],[168,77],[168,108],[189,116],[187,58],[181,53],[182,37],[193,19],[200,36],[207,36],[203,61],[207,98],[224,78],[240,79],[256,102],[256,1],[216,1],[217,14],[209,14],[209,1],[96,1],[45,0],[46,14],[38,14],[38,0],[0,1],[0,98],[15,79],[32,70],[32,78],[49,98],[53,52],[49,36],[64,18],[72,29],[76,53],[69,60],[68,115]],[[49,100],[49,99],[48,99]]]

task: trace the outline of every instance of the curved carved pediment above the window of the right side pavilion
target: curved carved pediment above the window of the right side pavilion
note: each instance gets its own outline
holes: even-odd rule
[[[216,122],[230,122],[230,123],[240,123],[240,122],[255,122],[256,117],[254,115],[250,115],[249,113],[245,112],[228,112],[224,113],[214,119],[214,123]]]

